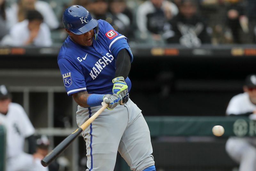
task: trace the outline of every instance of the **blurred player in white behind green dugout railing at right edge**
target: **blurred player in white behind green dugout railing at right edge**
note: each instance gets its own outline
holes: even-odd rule
[[[256,75],[248,75],[245,79],[244,93],[230,100],[227,115],[249,116],[256,114]],[[226,143],[229,156],[240,164],[239,171],[256,171],[256,138],[230,137]]]

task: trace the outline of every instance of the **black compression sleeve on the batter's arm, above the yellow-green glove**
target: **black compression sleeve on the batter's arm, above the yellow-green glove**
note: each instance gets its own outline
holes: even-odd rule
[[[116,77],[127,78],[131,69],[131,57],[129,52],[126,49],[121,49],[116,57]]]

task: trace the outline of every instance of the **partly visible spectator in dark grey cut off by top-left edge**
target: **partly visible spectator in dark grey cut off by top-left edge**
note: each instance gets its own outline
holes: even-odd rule
[[[0,0],[0,41],[8,34],[6,27],[5,0]]]

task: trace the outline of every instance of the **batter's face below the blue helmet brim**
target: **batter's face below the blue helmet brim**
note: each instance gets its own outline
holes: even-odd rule
[[[71,37],[71,39],[74,42],[76,42],[82,46],[91,46],[92,45],[92,39],[94,37],[93,29],[82,34],[82,35],[76,35],[68,30],[66,30],[66,31],[68,32],[69,36]]]

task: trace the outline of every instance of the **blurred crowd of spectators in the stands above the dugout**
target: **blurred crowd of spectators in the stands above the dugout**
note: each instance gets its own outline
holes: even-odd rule
[[[62,12],[78,4],[132,43],[252,44],[255,0],[0,0],[1,46],[62,43]]]

